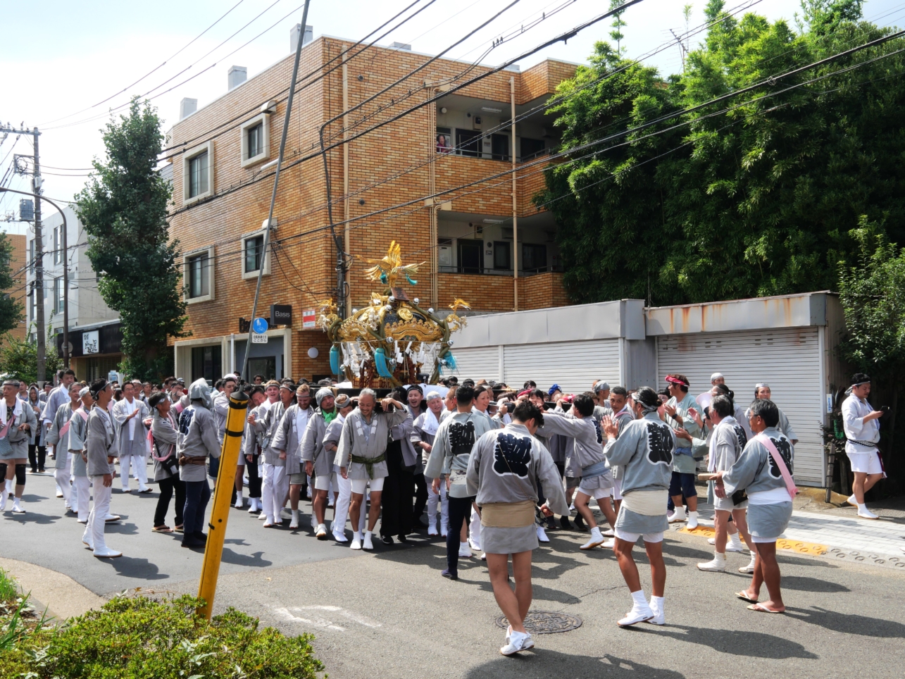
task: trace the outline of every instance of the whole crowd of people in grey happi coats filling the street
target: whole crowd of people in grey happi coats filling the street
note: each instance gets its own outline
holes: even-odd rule
[[[549,541],[549,530],[587,532],[580,550],[614,550],[632,596],[619,626],[664,624],[663,534],[671,523],[699,525],[696,482],[706,476],[716,534],[713,559],[698,568],[725,571],[727,551],[747,551],[738,570],[752,578],[738,598],[755,611],[785,610],[776,540],[797,492],[797,435],[767,384],[757,384],[742,406],[719,373],[698,397],[678,373],[667,375],[660,391],[596,380],[586,392],[564,394],[533,381],[512,389],[453,377],[396,387],[384,397],[368,388],[351,396],[356,390],[330,380],[295,384],[262,376],[241,384],[226,375],[214,387],[201,378],[187,388],[176,378],[161,385],[105,379],[86,385],[72,370],[60,371],[58,380],[53,389],[3,382],[0,512],[9,497],[12,512],[26,511],[26,449],[32,471],[41,472],[46,446],[57,496],[85,524],[82,541],[99,558],[121,555],[104,535],[106,523],[119,520],[110,510],[113,480],[119,475],[124,493],[131,492],[131,478],[138,493],[151,492],[150,456],[159,489],[151,529],[181,532],[186,548],[205,546],[208,479],[224,474],[233,485],[233,507],[258,514],[265,529],[284,521],[298,529],[306,497],[318,540],[331,536],[352,550],[373,550],[377,539],[406,542],[426,529],[445,538],[441,575],[452,580],[459,559],[480,554],[510,621],[500,652],[511,655],[534,644],[523,625],[531,553]],[[843,404],[855,476],[849,502],[858,516],[875,519],[863,493],[883,475],[876,448],[882,412],[867,402],[868,376],[856,374],[852,385]],[[230,396],[239,387],[248,397],[241,454],[234,470],[222,469]],[[651,566],[651,598],[633,559],[639,538]]]

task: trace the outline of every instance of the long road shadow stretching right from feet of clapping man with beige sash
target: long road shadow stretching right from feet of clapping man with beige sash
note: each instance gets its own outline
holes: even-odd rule
[[[715,651],[730,655],[748,655],[754,658],[774,660],[783,658],[816,659],[818,657],[806,650],[805,646],[789,641],[782,636],[767,635],[749,629],[708,629],[706,627],[667,625],[665,627],[634,626],[632,631],[657,636],[671,636],[676,641],[710,646]]]

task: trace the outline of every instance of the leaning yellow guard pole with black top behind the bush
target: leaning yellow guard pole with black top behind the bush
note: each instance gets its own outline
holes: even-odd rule
[[[217,577],[220,574],[220,560],[224,553],[226,522],[229,521],[230,500],[235,482],[235,465],[239,461],[242,447],[242,433],[245,428],[245,413],[248,397],[242,390],[233,392],[229,398],[229,412],[226,414],[226,434],[220,450],[220,465],[214,486],[214,502],[211,505],[211,521],[207,524],[207,544],[205,561],[201,566],[201,581],[198,583],[198,598],[205,604],[197,613],[208,620],[214,610],[214,594],[217,591]]]

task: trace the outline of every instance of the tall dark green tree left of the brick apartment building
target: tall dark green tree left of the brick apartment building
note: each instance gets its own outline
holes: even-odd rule
[[[119,311],[123,367],[136,378],[160,377],[167,337],[184,337],[186,303],[181,295],[177,242],[167,234],[172,187],[157,173],[163,135],[157,111],[133,99],[128,115],[103,132],[106,162],[77,196],[90,237],[88,257],[100,273],[99,289]]]

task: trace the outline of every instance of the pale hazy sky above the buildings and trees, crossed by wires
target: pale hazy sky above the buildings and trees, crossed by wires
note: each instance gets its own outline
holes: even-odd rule
[[[311,0],[308,23],[313,25],[315,36],[358,39],[412,1]],[[434,0],[424,12],[380,43],[411,43],[416,52],[438,53],[511,2]],[[421,0],[418,6],[429,3],[431,0]],[[626,54],[643,56],[671,41],[670,29],[681,33],[685,28],[685,4],[685,0],[643,0],[626,10]],[[706,0],[691,0],[691,4],[693,27],[703,21]],[[24,122],[26,127],[43,130],[44,193],[51,198],[71,199],[85,182],[83,175],[87,170],[83,168],[90,167],[91,158],[103,152],[99,130],[109,119],[111,108],[122,106],[132,94],[147,93],[168,127],[177,118],[182,98],[197,99],[200,108],[222,95],[226,91],[226,72],[233,64],[247,67],[252,77],[285,57],[290,51],[290,28],[301,20],[301,5],[302,0],[33,0],[28,11],[12,12],[7,8],[0,41],[0,120],[15,127]],[[473,61],[501,33],[529,23],[542,12],[552,14],[483,60],[500,63],[603,13],[607,5],[606,0],[520,0],[469,41],[453,48],[448,56]],[[727,8],[743,5],[753,5],[750,11],[770,19],[793,21],[799,11],[797,0],[726,3]],[[197,37],[231,7],[232,11],[218,24]],[[878,24],[905,23],[905,0],[867,0],[864,16]],[[243,28],[245,24],[249,25]],[[609,24],[610,20],[605,19],[567,44],[557,43],[520,65],[524,69],[548,57],[586,62],[595,41],[609,39]],[[262,32],[265,33],[254,39]],[[195,42],[186,47],[193,39]],[[185,49],[173,56],[182,48]],[[679,48],[670,47],[648,62],[665,74],[678,72]],[[154,69],[157,70],[151,72]],[[151,73],[133,85],[148,72]],[[12,152],[13,136],[0,145],[0,177],[14,153],[31,153],[28,139],[19,139]],[[28,177],[16,176],[6,186],[24,190],[28,183]],[[17,211],[19,197],[0,197],[0,217]],[[22,226],[0,223],[0,228],[15,233],[24,233]]]

